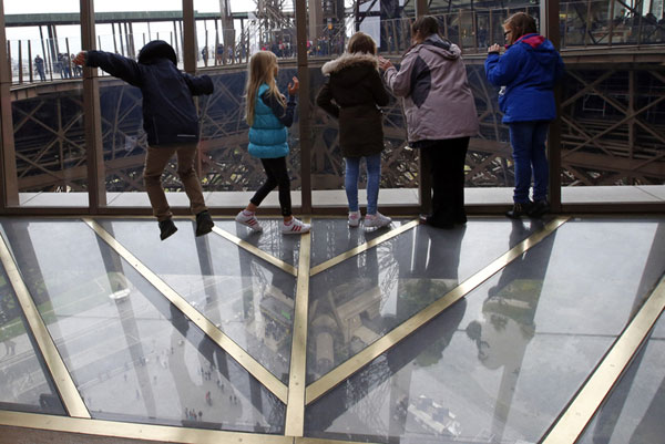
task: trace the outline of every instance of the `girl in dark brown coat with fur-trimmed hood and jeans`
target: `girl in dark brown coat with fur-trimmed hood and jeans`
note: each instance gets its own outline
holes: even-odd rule
[[[324,64],[323,72],[330,78],[316,99],[317,105],[339,120],[350,227],[360,224],[358,176],[362,157],[367,166],[365,228],[385,227],[391,223],[378,211],[383,151],[383,125],[378,106],[386,106],[389,95],[381,82],[376,54],[377,45],[371,37],[356,32],[349,39],[347,52]]]

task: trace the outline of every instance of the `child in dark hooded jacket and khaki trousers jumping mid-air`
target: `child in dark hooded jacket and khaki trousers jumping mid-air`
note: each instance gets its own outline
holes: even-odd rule
[[[104,51],[82,51],[78,65],[101,68],[113,76],[141,89],[143,94],[143,130],[147,134],[147,155],[143,178],[145,190],[160,224],[160,238],[177,231],[162,188],[162,173],[177,154],[177,174],[196,215],[196,236],[213,230],[214,223],[205,206],[201,182],[194,169],[198,145],[198,115],[193,95],[211,94],[213,81],[207,75],[194,76],[177,69],[173,48],[162,41],[147,43],[139,53],[139,62]]]

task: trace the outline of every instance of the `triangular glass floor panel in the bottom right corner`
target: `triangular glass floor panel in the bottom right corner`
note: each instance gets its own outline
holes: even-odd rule
[[[618,385],[579,440],[580,444],[661,443],[665,437],[665,314]]]

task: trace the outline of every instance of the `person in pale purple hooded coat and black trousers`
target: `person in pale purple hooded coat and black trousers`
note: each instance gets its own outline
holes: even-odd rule
[[[379,64],[386,86],[402,97],[409,145],[431,167],[432,213],[422,219],[451,229],[467,223],[464,165],[469,141],[478,134],[478,112],[462,51],[441,37],[437,19],[416,19],[411,41],[399,70],[382,58]]]

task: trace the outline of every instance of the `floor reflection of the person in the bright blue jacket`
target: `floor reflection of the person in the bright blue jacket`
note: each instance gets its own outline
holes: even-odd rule
[[[532,224],[543,225],[538,219]],[[526,231],[520,220],[513,220],[509,245],[524,238]],[[492,433],[499,441],[507,425],[526,348],[535,335],[535,313],[553,239],[554,234],[541,244],[541,248],[530,249],[508,265],[497,285],[488,289],[482,318],[467,326],[467,335],[475,342],[478,359],[483,366],[503,369],[492,423]]]

